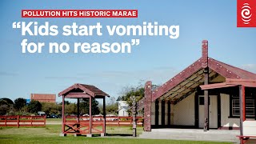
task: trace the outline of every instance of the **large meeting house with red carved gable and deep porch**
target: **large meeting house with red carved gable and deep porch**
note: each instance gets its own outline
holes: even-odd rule
[[[146,82],[145,98],[139,103],[144,107],[144,130],[241,130],[240,87],[248,86],[243,110],[248,120],[256,122],[255,80],[254,73],[208,57],[208,41],[203,40],[197,61],[156,89]]]

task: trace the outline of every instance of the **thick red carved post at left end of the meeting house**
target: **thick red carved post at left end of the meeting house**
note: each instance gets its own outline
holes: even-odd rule
[[[145,84],[144,131],[151,131],[152,82]]]

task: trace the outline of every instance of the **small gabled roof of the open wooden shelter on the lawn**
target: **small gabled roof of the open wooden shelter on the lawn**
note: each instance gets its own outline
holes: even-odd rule
[[[67,94],[81,95],[81,98],[82,98],[82,94],[84,95],[86,94],[91,97],[95,97],[95,96],[109,97],[109,94],[106,94],[102,90],[98,89],[96,86],[86,85],[81,83],[75,83],[74,85],[68,87],[66,90],[62,90],[62,92],[60,92],[58,96],[66,96]]]

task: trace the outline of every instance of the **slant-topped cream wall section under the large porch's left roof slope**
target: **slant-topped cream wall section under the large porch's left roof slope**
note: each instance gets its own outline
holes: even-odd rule
[[[174,105],[174,125],[194,126],[194,94]]]

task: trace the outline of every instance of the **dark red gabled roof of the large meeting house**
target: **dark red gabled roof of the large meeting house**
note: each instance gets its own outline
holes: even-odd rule
[[[251,73],[246,70],[242,70],[235,66],[230,66],[224,62],[219,62],[214,58],[209,58],[208,42],[206,46],[204,46],[204,42],[207,42],[207,41],[203,41],[202,58],[199,58],[196,62],[186,67],[185,70],[182,70],[180,73],[175,75],[174,78],[171,78],[169,81],[165,82],[162,86],[159,86],[158,89],[153,90],[152,102],[157,98],[160,98],[162,95],[172,94],[175,97],[177,95],[180,97],[184,97],[182,95],[190,94],[192,90],[195,90],[196,87],[200,85],[200,81],[202,81],[202,78],[203,78],[202,70],[206,66],[210,68],[209,73],[212,78],[215,78],[218,76],[218,74],[220,74],[224,78],[256,79],[256,74],[254,73]],[[173,91],[170,91],[170,90],[173,90]],[[177,94],[174,94],[174,93],[177,93]]]

